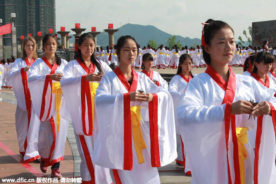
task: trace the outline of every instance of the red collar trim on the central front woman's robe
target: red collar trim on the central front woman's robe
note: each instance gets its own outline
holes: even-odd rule
[[[122,84],[125,86],[125,89],[128,90],[128,92],[136,92],[137,85],[138,85],[138,74],[136,71],[134,71],[132,68],[132,74],[133,74],[133,81],[130,84],[128,83],[128,80],[125,78],[125,75],[122,73],[119,67],[115,68],[113,71],[117,75],[117,77],[120,79]]]

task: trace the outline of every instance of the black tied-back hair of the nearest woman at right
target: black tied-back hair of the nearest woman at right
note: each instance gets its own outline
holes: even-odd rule
[[[205,43],[208,45],[211,44],[211,40],[220,29],[230,28],[234,34],[234,30],[232,29],[232,27],[224,21],[215,21],[213,19],[208,19],[205,23],[206,25],[204,25],[203,35]],[[205,63],[210,64],[211,58],[210,55],[205,51],[204,46],[202,47],[202,52]]]

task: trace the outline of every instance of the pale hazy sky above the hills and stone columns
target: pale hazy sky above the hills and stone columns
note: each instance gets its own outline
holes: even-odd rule
[[[243,29],[247,30],[252,22],[274,20],[274,15],[272,0],[63,0],[56,1],[56,30],[65,26],[66,31],[71,31],[75,23],[80,23],[87,32],[91,27],[102,32],[109,23],[116,29],[129,20],[131,24],[153,25],[172,35],[201,38],[201,22],[212,18],[226,21],[234,29],[236,40],[239,36],[245,40]]]

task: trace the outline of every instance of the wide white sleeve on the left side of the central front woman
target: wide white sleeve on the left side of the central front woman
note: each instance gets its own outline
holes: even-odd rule
[[[119,84],[113,83],[104,75],[96,91],[94,128],[98,127],[98,135],[93,158],[99,166],[123,169],[124,103],[130,103],[130,97],[129,100],[124,100],[124,95],[126,98],[127,94],[123,94],[119,86],[118,92],[112,94],[112,85]]]

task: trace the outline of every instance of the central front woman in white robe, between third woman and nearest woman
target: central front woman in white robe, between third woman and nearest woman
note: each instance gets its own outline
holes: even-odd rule
[[[120,66],[102,77],[96,91],[99,132],[93,158],[111,169],[113,184],[160,183],[156,167],[176,158],[171,95],[131,68],[137,49],[131,36],[118,39]],[[149,124],[141,119],[140,108],[149,109]]]

